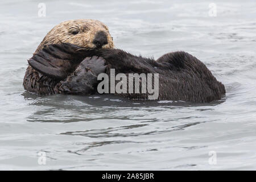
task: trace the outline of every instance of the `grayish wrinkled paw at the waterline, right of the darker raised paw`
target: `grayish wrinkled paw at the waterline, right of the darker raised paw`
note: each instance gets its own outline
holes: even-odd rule
[[[75,72],[57,85],[58,93],[93,94],[97,88],[97,76],[105,73],[105,59],[98,56],[86,57]]]

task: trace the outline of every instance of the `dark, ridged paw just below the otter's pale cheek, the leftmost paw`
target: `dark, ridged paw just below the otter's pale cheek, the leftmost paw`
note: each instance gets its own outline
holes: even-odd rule
[[[63,80],[84,59],[83,50],[68,43],[44,46],[28,60],[28,64],[43,75]]]

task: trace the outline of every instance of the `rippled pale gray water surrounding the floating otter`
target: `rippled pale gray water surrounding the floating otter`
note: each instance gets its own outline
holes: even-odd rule
[[[0,169],[256,169],[255,1],[43,1],[45,17],[39,2],[0,2]],[[26,92],[27,59],[53,26],[80,18],[107,24],[115,46],[135,55],[191,53],[226,96],[193,104]]]

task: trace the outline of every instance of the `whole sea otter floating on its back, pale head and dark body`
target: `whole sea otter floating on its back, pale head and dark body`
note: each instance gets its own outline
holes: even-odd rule
[[[28,60],[24,89],[37,94],[93,94],[97,92],[97,76],[110,75],[114,68],[115,74],[126,76],[159,73],[159,100],[210,102],[225,94],[224,85],[201,61],[186,52],[167,53],[155,61],[113,48],[108,27],[98,20],[60,23],[48,32]],[[148,93],[118,95],[148,98]]]

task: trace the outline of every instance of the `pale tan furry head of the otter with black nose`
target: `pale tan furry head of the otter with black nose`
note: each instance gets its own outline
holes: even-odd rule
[[[87,48],[114,48],[109,28],[98,20],[77,19],[57,24],[40,43],[35,53],[49,44],[71,43]]]

